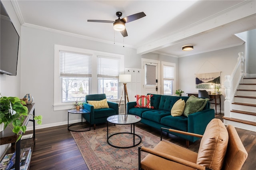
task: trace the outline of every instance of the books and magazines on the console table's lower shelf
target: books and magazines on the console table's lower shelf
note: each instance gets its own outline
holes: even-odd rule
[[[6,154],[0,163],[0,170],[15,170],[16,152]],[[31,148],[20,150],[20,170],[27,170],[31,159]]]

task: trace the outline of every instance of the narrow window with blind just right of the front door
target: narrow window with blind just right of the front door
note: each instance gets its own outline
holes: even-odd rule
[[[175,65],[163,64],[164,95],[173,95]]]

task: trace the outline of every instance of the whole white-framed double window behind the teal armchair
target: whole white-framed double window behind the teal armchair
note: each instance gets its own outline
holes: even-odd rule
[[[124,55],[54,45],[54,111],[72,108],[87,94],[120,99],[118,75],[123,72]]]

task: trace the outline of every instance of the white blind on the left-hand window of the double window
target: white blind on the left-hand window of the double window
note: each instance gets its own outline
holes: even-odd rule
[[[61,77],[92,77],[92,55],[60,51]]]

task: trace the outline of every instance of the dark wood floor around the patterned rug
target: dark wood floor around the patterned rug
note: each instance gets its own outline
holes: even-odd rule
[[[217,115],[217,118],[223,115]],[[136,125],[159,137],[160,130],[142,123]],[[248,158],[242,170],[256,170],[256,132],[236,128],[247,152]],[[26,132],[28,134],[29,132]],[[171,134],[164,139],[185,147],[186,141]],[[198,152],[200,140],[190,143],[190,150]],[[74,141],[67,125],[36,130],[36,144],[32,154],[30,170],[88,170],[84,159]]]

